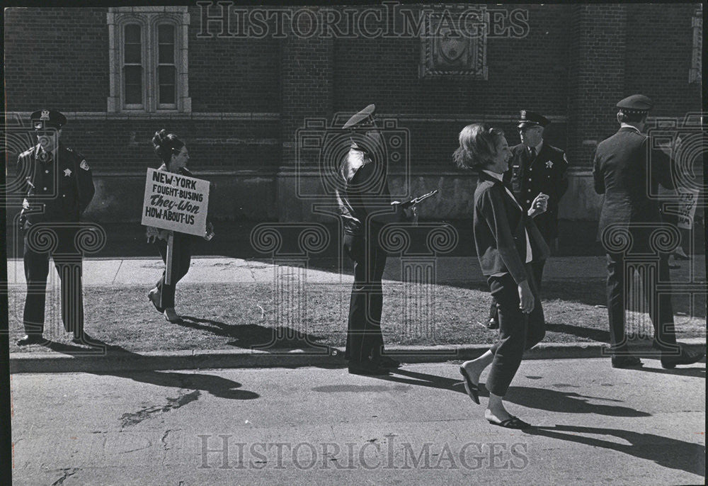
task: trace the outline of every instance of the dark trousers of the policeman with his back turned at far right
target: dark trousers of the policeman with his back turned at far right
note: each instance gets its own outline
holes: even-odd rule
[[[607,312],[610,317],[610,344],[617,354],[626,353],[627,337],[624,334],[624,306],[632,280],[633,270],[627,266],[624,254],[607,254]],[[654,328],[653,346],[661,351],[676,349],[676,334],[673,325],[673,307],[670,293],[656,291],[656,276],[653,272],[640,271],[644,297],[649,303],[649,317]],[[658,261],[658,280],[669,281],[668,255],[662,254]]]

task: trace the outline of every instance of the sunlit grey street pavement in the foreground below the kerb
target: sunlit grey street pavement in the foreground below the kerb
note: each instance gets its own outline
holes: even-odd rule
[[[488,424],[455,363],[15,374],[13,485],[704,484],[705,364],[644,363],[523,362],[529,431]]]

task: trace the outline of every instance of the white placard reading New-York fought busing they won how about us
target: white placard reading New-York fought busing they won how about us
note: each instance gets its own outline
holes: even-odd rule
[[[147,169],[143,225],[203,237],[208,207],[209,181]]]

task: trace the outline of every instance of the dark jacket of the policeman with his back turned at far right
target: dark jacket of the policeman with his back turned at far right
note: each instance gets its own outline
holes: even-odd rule
[[[593,178],[595,192],[605,194],[600,213],[600,234],[612,223],[661,221],[658,201],[649,198],[648,189],[656,193],[660,183],[673,189],[671,160],[661,150],[652,150],[647,161],[646,145],[646,135],[627,127],[620,128],[598,145]]]

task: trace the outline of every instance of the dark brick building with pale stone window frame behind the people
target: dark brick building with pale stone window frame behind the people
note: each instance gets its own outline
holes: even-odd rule
[[[407,137],[394,190],[440,190],[422,217],[471,216],[476,180],[450,162],[457,133],[486,120],[516,143],[527,108],[552,120],[546,138],[568,152],[561,217],[594,220],[591,157],[617,128],[616,101],[646,94],[654,118],[701,109],[700,4],[199,3],[6,10],[6,123],[26,126],[40,107],[67,113],[64,141],[95,172],[94,220],[139,220],[160,128],[181,135],[195,174],[217,183],[217,219],[321,220],[312,205],[326,205],[326,184],[299,135],[368,103]],[[467,11],[478,30],[451,37]],[[19,149],[8,142],[11,161]]]

